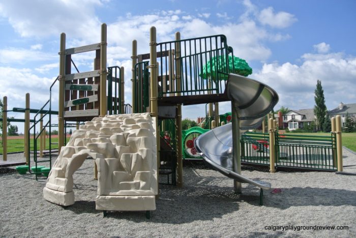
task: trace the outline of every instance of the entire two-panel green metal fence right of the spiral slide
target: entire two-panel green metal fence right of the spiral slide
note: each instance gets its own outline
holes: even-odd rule
[[[337,170],[336,137],[320,135],[275,134],[276,167],[312,170]],[[247,132],[241,138],[241,161],[269,165],[268,133]]]

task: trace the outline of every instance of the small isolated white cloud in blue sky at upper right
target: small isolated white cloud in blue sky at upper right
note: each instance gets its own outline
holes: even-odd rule
[[[263,9],[259,14],[258,19],[263,25],[269,25],[276,28],[286,28],[296,21],[294,15],[290,13],[278,12],[275,14],[272,7]]]

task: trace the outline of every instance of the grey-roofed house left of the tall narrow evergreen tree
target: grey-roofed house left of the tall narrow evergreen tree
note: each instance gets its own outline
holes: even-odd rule
[[[310,125],[315,121],[315,118],[314,109],[289,110],[283,115],[283,127],[290,131],[298,128],[303,129],[304,123]]]

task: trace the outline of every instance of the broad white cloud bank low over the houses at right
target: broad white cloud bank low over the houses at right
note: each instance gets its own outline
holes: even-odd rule
[[[251,77],[273,87],[279,94],[279,105],[291,109],[312,108],[317,80],[321,80],[328,109],[334,108],[340,101],[353,103],[356,100],[353,92],[356,57],[346,58],[341,53],[324,57],[307,55],[302,57],[301,65],[288,62],[282,65],[264,64]]]

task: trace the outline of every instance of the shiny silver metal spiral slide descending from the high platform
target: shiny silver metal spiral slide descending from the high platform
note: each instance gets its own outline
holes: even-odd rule
[[[241,133],[257,128],[278,102],[277,93],[269,86],[236,74],[229,74],[226,90],[232,110],[237,114]],[[234,120],[234,118],[232,118]],[[233,169],[232,123],[217,127],[199,136],[195,147],[204,161],[236,182],[270,189],[269,183],[253,181]]]

